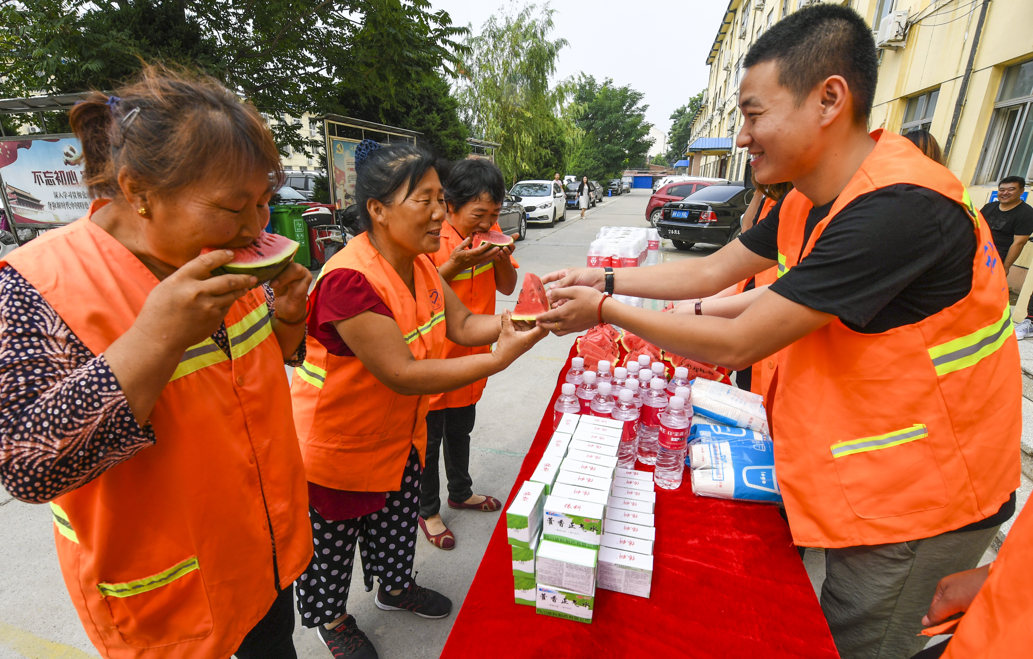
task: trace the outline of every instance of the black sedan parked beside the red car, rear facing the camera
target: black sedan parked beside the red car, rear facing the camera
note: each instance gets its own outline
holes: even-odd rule
[[[691,249],[696,243],[727,245],[742,230],[743,213],[754,192],[742,185],[707,186],[685,199],[664,203],[656,228],[678,249]]]

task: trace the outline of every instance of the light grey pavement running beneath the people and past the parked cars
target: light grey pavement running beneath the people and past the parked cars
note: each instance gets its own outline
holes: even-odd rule
[[[568,211],[568,219],[554,228],[530,227],[527,240],[518,243],[515,257],[521,273],[544,275],[564,265],[585,263],[589,242],[601,226],[646,226],[645,209],[650,191],[634,190],[606,197],[584,219]],[[678,252],[661,246],[664,260],[702,256],[716,248],[701,246]],[[518,287],[519,292],[520,288]],[[499,307],[511,309],[516,292],[499,296]],[[504,499],[527,452],[549,398],[557,370],[563,365],[573,337],[542,340],[509,370],[491,378],[477,405],[472,437],[470,471],[474,492]],[[442,472],[442,501],[447,493]],[[480,557],[501,512],[442,510],[457,536],[450,552],[435,548],[424,538],[417,542],[417,582],[452,599],[453,614],[442,620],[425,620],[407,611],[382,611],[373,604],[355,575],[348,601],[359,627],[376,645],[382,659],[437,657],[451,629],[456,613],[473,579]],[[82,659],[97,656],[83,631],[65,591],[54,550],[49,506],[11,499],[0,491],[0,659]],[[315,633],[299,624],[294,634],[303,658],[326,658],[328,651]]]

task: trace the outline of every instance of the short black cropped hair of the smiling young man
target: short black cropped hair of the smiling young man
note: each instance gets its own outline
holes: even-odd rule
[[[803,102],[829,75],[842,75],[853,95],[853,118],[867,123],[879,63],[872,29],[859,13],[836,4],[814,4],[776,23],[746,54],[747,68],[778,64],[778,84]]]

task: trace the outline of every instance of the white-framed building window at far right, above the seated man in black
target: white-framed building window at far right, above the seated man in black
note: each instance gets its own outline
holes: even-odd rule
[[[1033,60],[1004,71],[976,183],[1033,179]]]

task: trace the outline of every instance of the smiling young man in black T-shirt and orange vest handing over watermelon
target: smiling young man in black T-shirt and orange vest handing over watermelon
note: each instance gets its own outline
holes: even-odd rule
[[[936,583],[971,569],[1014,510],[1022,390],[1007,285],[961,182],[905,137],[868,132],[870,27],[816,4],[745,59],[759,183],[794,189],[703,258],[546,275],[559,334],[615,325],[734,370],[783,350],[766,397],[793,541],[825,547],[821,607],[844,659],[910,657]],[[889,237],[887,239],[887,237]],[[664,314],[605,292],[703,297],[777,265],[737,318]]]

